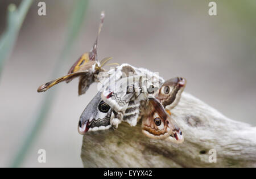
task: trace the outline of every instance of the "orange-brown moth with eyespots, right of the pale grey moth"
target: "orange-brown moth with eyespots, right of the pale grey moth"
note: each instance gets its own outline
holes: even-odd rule
[[[164,82],[160,87],[159,92],[155,98],[151,100],[151,105],[144,111],[142,119],[142,131],[145,135],[151,138],[165,139],[174,143],[182,143],[184,138],[182,131],[177,123],[172,119],[170,110],[173,109],[180,100],[187,80],[185,78],[172,78]],[[163,120],[166,118],[166,120]],[[153,123],[154,121],[154,123]],[[167,123],[167,124],[166,124]],[[167,133],[163,131],[171,130],[168,134],[170,137],[166,138]],[[162,137],[161,137],[162,135]]]

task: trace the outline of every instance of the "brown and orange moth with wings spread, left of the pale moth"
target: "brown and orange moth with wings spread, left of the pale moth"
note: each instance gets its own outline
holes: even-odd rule
[[[68,75],[62,76],[60,78],[57,78],[55,80],[52,80],[51,82],[47,82],[42,84],[38,88],[38,92],[47,91],[52,86],[55,86],[56,84],[60,82],[71,82],[72,79],[80,77],[79,79],[79,95],[84,94],[90,84],[92,84],[96,79],[96,76],[101,71],[105,71],[102,69],[102,66],[105,65],[107,61],[109,61],[110,57],[102,59],[102,61],[98,61],[98,54],[97,54],[97,48],[98,48],[98,37],[100,36],[101,28],[104,22],[105,14],[104,12],[101,12],[101,20],[100,20],[100,27],[98,28],[98,35],[96,37],[96,41],[93,44],[93,48],[90,50],[89,53],[83,54],[71,67],[71,69],[68,71]]]

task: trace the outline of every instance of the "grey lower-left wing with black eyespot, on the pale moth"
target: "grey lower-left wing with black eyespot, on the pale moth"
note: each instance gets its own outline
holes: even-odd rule
[[[87,131],[106,130],[111,127],[110,120],[114,117],[113,110],[101,99],[101,92],[90,101],[82,112],[78,130],[80,134]]]

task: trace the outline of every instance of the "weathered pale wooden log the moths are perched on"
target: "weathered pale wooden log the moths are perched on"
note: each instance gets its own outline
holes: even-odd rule
[[[183,93],[172,110],[185,140],[174,144],[145,137],[141,123],[84,135],[84,167],[256,167],[256,127],[230,120]],[[210,149],[217,162],[210,163]]]

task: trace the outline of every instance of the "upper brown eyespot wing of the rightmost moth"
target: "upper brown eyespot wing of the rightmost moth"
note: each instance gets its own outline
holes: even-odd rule
[[[181,93],[186,86],[187,80],[182,77],[172,78],[163,83],[156,99],[163,104],[164,108],[172,109],[179,103]]]

